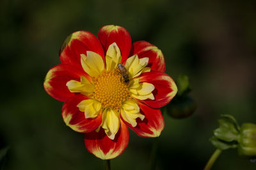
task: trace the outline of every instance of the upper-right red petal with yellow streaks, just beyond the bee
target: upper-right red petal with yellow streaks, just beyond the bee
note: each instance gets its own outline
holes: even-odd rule
[[[149,42],[139,41],[132,43],[130,56],[137,54],[139,58],[149,58],[148,66],[151,70],[164,72],[164,55],[155,45]]]

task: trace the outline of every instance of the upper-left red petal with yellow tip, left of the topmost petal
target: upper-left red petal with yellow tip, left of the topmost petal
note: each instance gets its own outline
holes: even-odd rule
[[[88,31],[77,31],[67,37],[60,49],[61,63],[81,67],[81,56],[90,50],[105,58],[102,45],[95,35]]]

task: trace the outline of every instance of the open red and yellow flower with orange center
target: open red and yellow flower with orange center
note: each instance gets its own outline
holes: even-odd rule
[[[87,150],[111,159],[127,147],[127,127],[142,137],[161,134],[159,107],[172,100],[177,86],[164,73],[164,56],[156,46],[131,44],[128,31],[120,26],[104,26],[98,37],[88,31],[68,36],[60,49],[61,64],[49,70],[44,88],[65,102],[63,120],[85,134]]]

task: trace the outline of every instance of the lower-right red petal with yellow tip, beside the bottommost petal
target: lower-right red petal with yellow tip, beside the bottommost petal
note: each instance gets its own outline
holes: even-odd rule
[[[164,129],[164,118],[160,109],[154,109],[148,105],[139,102],[140,113],[145,116],[143,120],[136,119],[136,127],[132,127],[130,123],[125,122],[137,135],[141,137],[158,137]]]

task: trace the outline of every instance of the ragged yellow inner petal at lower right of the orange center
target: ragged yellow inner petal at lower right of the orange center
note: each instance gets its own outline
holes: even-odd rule
[[[138,104],[132,100],[127,100],[122,104],[121,115],[132,127],[136,127],[137,125],[136,118],[140,118],[141,120],[145,118],[145,116],[140,113]]]

